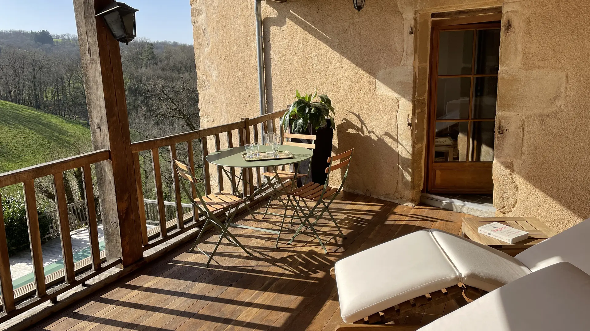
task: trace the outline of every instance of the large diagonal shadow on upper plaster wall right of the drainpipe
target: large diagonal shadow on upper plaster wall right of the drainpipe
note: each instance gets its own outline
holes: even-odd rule
[[[277,11],[274,17],[263,19],[264,28],[264,66],[269,110],[273,104],[273,36],[271,28],[285,27],[291,21],[307,34],[330,47],[337,54],[348,59],[373,78],[378,78],[379,71],[396,67],[401,62],[404,42],[385,35],[398,35],[404,30],[404,20],[395,2],[376,1],[358,12],[352,2],[333,0],[289,0],[288,2],[267,1],[266,4]],[[277,37],[278,38],[278,37]],[[292,38],[290,51],[293,58],[283,57],[282,61],[297,61],[298,54],[309,55],[306,48],[308,41],[300,35],[281,36]],[[333,59],[317,58],[322,61]],[[388,82],[383,82],[388,85]],[[409,82],[411,84],[411,81]],[[394,87],[391,87],[395,90]],[[401,94],[401,93],[400,93]],[[284,109],[278,105],[277,109]]]

